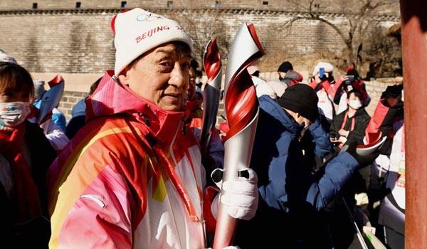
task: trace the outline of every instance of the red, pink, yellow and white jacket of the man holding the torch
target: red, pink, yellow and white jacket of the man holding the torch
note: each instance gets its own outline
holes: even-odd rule
[[[204,172],[184,112],[132,94],[112,71],[86,105],[49,172],[50,247],[204,248]]]

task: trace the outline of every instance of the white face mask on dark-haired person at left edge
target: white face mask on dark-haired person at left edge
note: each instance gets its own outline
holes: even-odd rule
[[[30,102],[0,103],[0,125],[16,127],[30,114]]]

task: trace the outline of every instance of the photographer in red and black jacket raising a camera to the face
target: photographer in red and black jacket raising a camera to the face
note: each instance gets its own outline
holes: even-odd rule
[[[363,80],[360,78],[354,66],[346,68],[346,75],[342,75],[335,83],[334,88],[336,92],[332,93],[334,97],[334,103],[338,105],[337,114],[347,110],[347,95],[351,90],[357,90],[362,94],[362,105],[367,107],[371,102],[371,97],[365,88]]]

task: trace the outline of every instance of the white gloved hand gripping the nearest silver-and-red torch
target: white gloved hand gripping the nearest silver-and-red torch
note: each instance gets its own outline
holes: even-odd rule
[[[249,220],[255,216],[258,208],[258,177],[253,169],[238,171],[236,180],[222,182],[222,169],[216,169],[211,177],[225,192],[221,203],[227,206],[227,213],[233,218]]]

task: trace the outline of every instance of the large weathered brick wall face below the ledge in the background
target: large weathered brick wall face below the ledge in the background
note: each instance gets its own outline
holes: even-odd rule
[[[21,7],[19,4],[16,6]],[[209,25],[212,25],[212,21],[215,22],[214,26],[221,26],[218,33],[212,35],[223,36],[228,42],[224,46],[229,45],[243,22],[254,23],[266,51],[265,58],[260,60],[261,64],[273,57],[280,62],[313,53],[336,55],[344,48],[337,33],[318,21],[298,21],[289,32],[285,31],[283,23],[299,15],[299,12],[262,8],[150,8],[159,14],[178,19],[197,44],[204,44],[207,37],[196,34],[206,34],[211,29]],[[58,10],[48,7],[35,11],[0,11],[0,30],[3,33],[0,36],[0,49],[14,56],[31,72],[102,73],[114,65],[115,49],[110,20],[118,11],[120,9]],[[325,13],[325,16],[339,26],[347,25],[342,14]],[[387,28],[399,21],[399,16],[382,16],[380,24]],[[200,54],[195,56],[201,57]],[[273,63],[274,68],[278,62]]]

